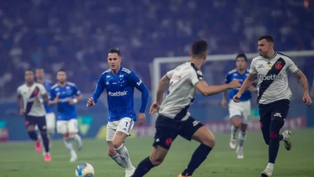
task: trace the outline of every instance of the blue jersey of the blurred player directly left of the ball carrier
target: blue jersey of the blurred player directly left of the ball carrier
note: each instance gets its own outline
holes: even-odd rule
[[[70,120],[77,118],[76,106],[68,103],[69,99],[75,99],[75,97],[81,94],[77,86],[74,83],[66,82],[64,87],[60,87],[57,83],[51,88],[50,101],[53,101],[57,95],[59,95],[58,108],[58,120]]]

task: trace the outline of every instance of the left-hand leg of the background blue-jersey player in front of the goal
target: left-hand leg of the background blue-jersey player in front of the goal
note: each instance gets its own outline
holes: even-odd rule
[[[240,103],[235,103],[234,101],[230,100],[229,102],[229,116],[231,120],[231,137],[229,146],[231,150],[235,150],[237,147],[236,143],[236,135],[238,132],[238,129],[241,125],[241,107],[239,106]]]

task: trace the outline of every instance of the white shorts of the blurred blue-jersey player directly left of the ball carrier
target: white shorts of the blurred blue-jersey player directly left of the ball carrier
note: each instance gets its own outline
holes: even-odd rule
[[[58,120],[57,132],[58,134],[77,133],[78,132],[77,119]]]

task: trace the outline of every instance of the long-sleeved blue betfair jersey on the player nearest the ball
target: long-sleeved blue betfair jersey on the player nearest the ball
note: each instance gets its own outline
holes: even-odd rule
[[[97,103],[103,90],[107,91],[109,122],[117,121],[121,118],[131,118],[136,121],[133,101],[134,87],[142,92],[140,113],[144,113],[149,90],[135,73],[121,67],[117,75],[114,75],[111,69],[101,74],[93,98],[95,103]]]

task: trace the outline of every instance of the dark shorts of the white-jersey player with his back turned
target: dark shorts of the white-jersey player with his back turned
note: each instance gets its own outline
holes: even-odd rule
[[[200,129],[200,127],[204,125],[191,116],[188,117],[187,120],[181,121],[167,118],[164,115],[158,115],[155,126],[156,134],[153,146],[161,146],[169,150],[172,141],[174,141],[178,135],[190,141],[197,129]]]

